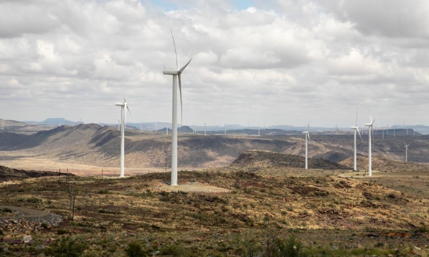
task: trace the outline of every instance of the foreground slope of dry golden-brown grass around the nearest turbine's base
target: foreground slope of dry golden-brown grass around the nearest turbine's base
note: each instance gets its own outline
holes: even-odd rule
[[[66,231],[90,243],[90,251],[99,256],[122,256],[120,245],[130,240],[149,243],[151,249],[178,244],[192,256],[240,256],[239,241],[244,234],[259,242],[273,234],[296,234],[307,251],[320,246],[350,253],[379,243],[379,247],[391,245],[405,252],[416,245],[424,253],[428,234],[418,232],[427,225],[428,198],[368,179],[296,176],[302,169],[283,169],[279,174],[266,168],[256,173],[234,169],[179,172],[179,184],[230,191],[222,194],[164,191],[170,174],[163,173],[125,179],[72,178],[77,194],[74,221],[34,232],[33,237],[58,238],[58,231]],[[427,176],[421,180],[429,181]],[[56,177],[37,178],[1,187],[0,194],[5,205],[70,216],[66,188]],[[25,201],[27,198],[40,201]],[[397,234],[383,236],[386,232]],[[409,237],[398,240],[402,234]],[[110,243],[106,245],[106,241]]]

